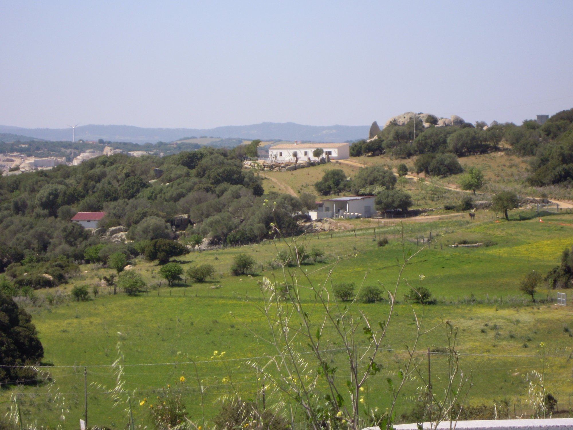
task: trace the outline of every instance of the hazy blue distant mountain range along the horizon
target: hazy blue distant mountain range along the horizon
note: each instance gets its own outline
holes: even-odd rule
[[[134,126],[76,127],[76,140],[111,142],[173,142],[191,136],[261,140],[303,140],[310,142],[348,142],[368,137],[370,126],[303,126],[295,123],[260,123],[250,126],[216,128],[143,128]],[[72,140],[71,128],[22,128],[0,126],[0,133],[31,136],[44,140]],[[20,139],[23,140],[23,139]]]

